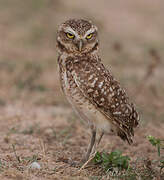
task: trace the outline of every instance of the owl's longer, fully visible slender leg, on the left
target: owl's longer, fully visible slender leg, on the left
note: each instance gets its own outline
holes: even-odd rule
[[[96,140],[96,129],[95,128],[91,128],[91,130],[92,130],[92,136],[91,136],[91,140],[90,140],[90,143],[89,143],[89,146],[88,146],[87,153],[86,153],[85,157],[82,159],[83,163],[88,161],[89,156],[90,156],[90,154],[92,152],[93,146],[95,144],[95,140]]]

